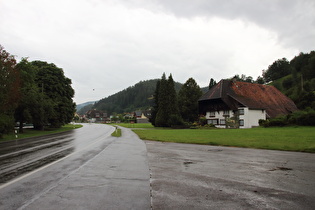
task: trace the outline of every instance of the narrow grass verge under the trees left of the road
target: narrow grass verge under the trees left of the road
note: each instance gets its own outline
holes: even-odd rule
[[[12,134],[4,135],[4,138],[0,139],[0,141],[2,142],[2,141],[13,140],[13,139],[15,140],[15,139],[35,137],[35,136],[44,136],[44,135],[53,134],[53,133],[61,133],[68,130],[81,128],[82,126],[83,125],[78,125],[78,124],[67,124],[67,125],[62,126],[61,128],[46,129],[44,131],[38,131],[34,129],[24,129],[24,133],[17,133],[18,138],[16,138],[15,133],[12,133]]]

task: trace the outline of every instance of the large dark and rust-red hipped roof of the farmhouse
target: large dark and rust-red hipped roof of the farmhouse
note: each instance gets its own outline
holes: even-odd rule
[[[216,99],[224,101],[232,110],[240,105],[250,109],[265,109],[269,117],[297,110],[294,102],[277,88],[248,82],[221,80],[201,96],[199,101]]]

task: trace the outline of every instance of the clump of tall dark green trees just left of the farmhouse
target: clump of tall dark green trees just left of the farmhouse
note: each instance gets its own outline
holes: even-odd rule
[[[155,127],[176,127],[197,121],[201,95],[201,88],[193,78],[189,78],[177,94],[172,74],[166,79],[164,73],[156,84],[151,123]]]

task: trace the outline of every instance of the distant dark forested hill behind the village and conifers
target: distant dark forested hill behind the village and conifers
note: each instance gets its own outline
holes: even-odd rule
[[[148,109],[153,106],[153,95],[158,79],[140,81],[134,86],[128,87],[107,98],[103,98],[92,106],[92,109],[112,113],[133,112],[138,109]],[[176,91],[179,91],[181,83],[175,83]]]

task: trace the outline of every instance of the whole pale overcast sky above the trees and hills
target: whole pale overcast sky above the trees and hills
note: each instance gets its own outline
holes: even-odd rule
[[[315,50],[315,1],[0,0],[0,44],[62,68],[78,104],[163,72],[204,87]]]

